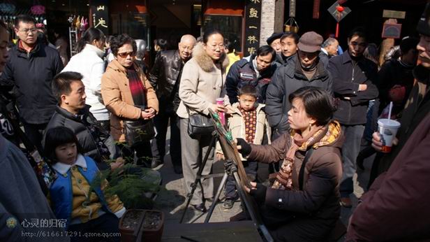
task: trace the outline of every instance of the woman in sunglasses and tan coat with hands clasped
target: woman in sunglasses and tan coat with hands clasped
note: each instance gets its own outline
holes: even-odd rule
[[[125,145],[124,120],[150,120],[158,112],[158,99],[154,88],[134,63],[137,45],[133,38],[121,34],[112,40],[110,48],[115,59],[107,66],[101,81],[101,94],[110,117],[110,130],[119,142],[123,157],[138,157],[138,164],[151,167],[149,141],[128,147]],[[146,160],[146,162],[144,162]]]

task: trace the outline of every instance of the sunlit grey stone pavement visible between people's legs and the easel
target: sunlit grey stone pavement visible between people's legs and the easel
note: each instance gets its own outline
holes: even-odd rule
[[[170,132],[168,132],[169,134]],[[166,148],[166,150],[169,150]],[[371,159],[373,156],[371,157]],[[156,198],[156,209],[163,211],[165,214],[165,223],[179,223],[181,215],[184,212],[186,205],[186,193],[184,189],[184,179],[182,175],[178,175],[173,171],[172,162],[170,161],[170,154],[165,156],[165,163],[158,166],[156,170],[161,173],[163,178],[163,185],[161,192],[158,193]],[[371,160],[368,159],[368,160]],[[342,208],[341,220],[343,224],[347,225],[350,215],[353,213],[355,206],[357,206],[357,200],[362,196],[369,180],[369,173],[371,168],[371,162],[366,160],[364,166],[365,171],[357,171],[354,177],[354,189],[355,194],[353,197],[353,208]],[[223,164],[221,161],[214,163],[214,173],[223,173]],[[260,179],[265,179],[268,176],[267,164],[259,164],[258,176]],[[218,185],[221,183],[221,177],[214,178],[215,189],[218,189]],[[240,201],[236,201],[235,205],[230,210],[225,210],[222,207],[222,201],[224,199],[223,193],[221,194],[221,202],[218,202],[214,213],[212,214],[210,222],[227,222],[232,215],[239,213]],[[211,203],[206,201],[206,207],[209,209]],[[207,213],[201,213],[196,211],[192,206],[188,206],[184,222],[204,222]]]

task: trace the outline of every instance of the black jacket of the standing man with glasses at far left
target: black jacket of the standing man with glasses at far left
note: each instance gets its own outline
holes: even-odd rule
[[[0,77],[1,88],[13,88],[24,122],[45,124],[57,106],[51,83],[63,69],[63,62],[57,50],[43,43],[38,43],[29,53],[18,45],[10,50],[8,63]]]

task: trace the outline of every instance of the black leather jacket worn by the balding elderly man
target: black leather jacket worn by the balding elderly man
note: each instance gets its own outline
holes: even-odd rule
[[[163,105],[160,111],[176,113],[181,102],[178,90],[183,68],[184,62],[178,50],[158,52],[149,73],[149,83],[154,87],[157,98]]]

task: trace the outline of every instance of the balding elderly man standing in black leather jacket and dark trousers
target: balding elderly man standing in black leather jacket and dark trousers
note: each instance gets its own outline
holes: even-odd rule
[[[182,173],[181,169],[181,138],[179,135],[178,117],[179,80],[185,62],[191,59],[191,52],[195,45],[195,38],[189,34],[181,37],[179,50],[164,50],[158,52],[154,66],[149,73],[149,82],[156,90],[160,111],[154,118],[157,130],[156,142],[152,143],[152,168],[163,164],[165,155],[165,136],[170,119],[170,156],[172,157],[175,173]]]

